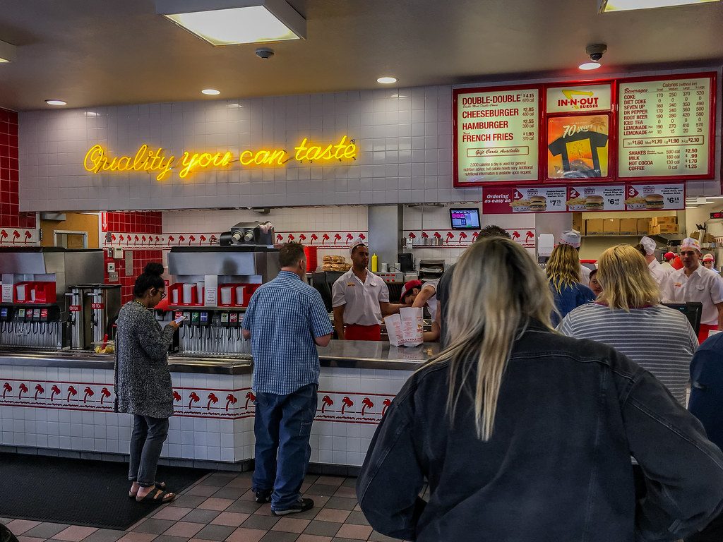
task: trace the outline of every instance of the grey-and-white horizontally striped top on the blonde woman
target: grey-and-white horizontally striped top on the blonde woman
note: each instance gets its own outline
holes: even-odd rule
[[[570,311],[557,330],[612,346],[650,371],[685,405],[690,358],[698,337],[683,313],[667,306],[611,311],[591,303]]]

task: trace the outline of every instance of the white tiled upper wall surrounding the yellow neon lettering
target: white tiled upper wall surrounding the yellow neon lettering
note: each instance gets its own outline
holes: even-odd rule
[[[398,97],[397,97],[398,96]],[[355,139],[352,163],[298,163],[195,173],[166,181],[150,173],[83,168],[95,144],[111,156],[140,145],[184,151],[292,149]],[[293,151],[292,151],[293,152]],[[418,87],[246,100],[155,103],[20,113],[21,210],[193,209],[467,201],[452,188],[452,89]]]

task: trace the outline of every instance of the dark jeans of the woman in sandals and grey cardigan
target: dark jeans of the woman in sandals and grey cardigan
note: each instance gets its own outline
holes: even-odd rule
[[[133,415],[128,479],[141,487],[155,483],[158,457],[168,436],[168,418]]]

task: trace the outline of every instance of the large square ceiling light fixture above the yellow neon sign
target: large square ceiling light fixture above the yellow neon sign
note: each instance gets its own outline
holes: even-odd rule
[[[307,34],[304,17],[284,0],[156,0],[155,10],[215,47]]]

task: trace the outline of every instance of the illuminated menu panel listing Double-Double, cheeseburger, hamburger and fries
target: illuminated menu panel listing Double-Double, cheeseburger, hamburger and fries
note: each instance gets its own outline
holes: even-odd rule
[[[537,87],[454,91],[455,186],[536,181]]]

